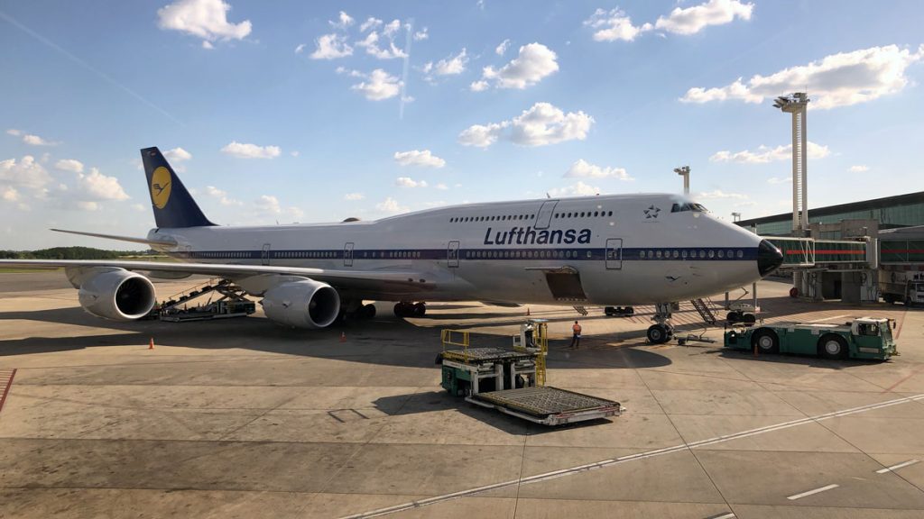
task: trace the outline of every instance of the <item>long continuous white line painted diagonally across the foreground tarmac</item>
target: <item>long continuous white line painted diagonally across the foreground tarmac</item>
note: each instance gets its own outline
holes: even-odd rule
[[[879,404],[860,405],[859,407],[851,407],[849,409],[843,409],[841,411],[833,411],[831,413],[824,413],[823,415],[807,416],[805,418],[799,418],[797,420],[783,422],[783,423],[775,424],[772,426],[766,426],[762,428],[752,428],[748,430],[743,430],[741,432],[736,432],[733,434],[717,436],[715,438],[710,438],[708,440],[693,441],[690,443],[681,443],[679,445],[674,445],[672,447],[664,447],[663,449],[655,449],[653,451],[647,451],[645,453],[629,454],[626,456],[621,456],[618,458],[612,458],[608,460],[602,460],[602,461],[594,462],[594,463],[587,464],[587,465],[577,465],[571,468],[563,468],[561,470],[554,470],[552,472],[537,474],[535,476],[523,477],[520,479],[510,479],[507,481],[492,483],[491,485],[485,485],[483,487],[476,487],[474,489],[459,490],[457,492],[453,492],[450,494],[432,496],[430,498],[422,499],[419,501],[410,501],[410,502],[406,502],[402,504],[397,504],[395,506],[390,506],[387,508],[380,508],[378,510],[372,510],[370,512],[347,515],[344,519],[379,517],[381,515],[388,515],[390,513],[404,512],[406,510],[413,510],[415,508],[420,508],[423,506],[436,504],[438,502],[451,501],[451,500],[455,500],[458,498],[464,498],[464,497],[472,496],[475,494],[480,494],[481,492],[486,492],[488,490],[505,489],[507,487],[516,487],[517,485],[529,485],[530,483],[539,483],[541,481],[547,481],[549,479],[554,479],[556,477],[574,476],[576,474],[582,474],[584,472],[588,472],[590,470],[596,470],[598,468],[603,468],[606,466],[620,465],[626,462],[643,460],[643,459],[651,458],[654,456],[661,456],[663,454],[687,451],[689,449],[704,447],[706,445],[714,445],[716,443],[722,443],[723,441],[732,441],[732,440],[738,440],[740,438],[748,438],[750,436],[756,436],[758,434],[773,432],[775,430],[781,430],[784,428],[792,428],[792,427],[796,427],[800,425],[805,425],[808,423],[820,422],[821,420],[836,418],[838,416],[856,415],[857,413],[865,413],[867,411],[872,411],[874,409],[881,409],[882,407],[890,407],[892,405],[907,404],[909,402],[917,402],[918,400],[924,400],[924,393],[916,394],[914,396],[903,397],[903,398],[896,398],[894,400],[889,400],[887,402],[881,402]]]

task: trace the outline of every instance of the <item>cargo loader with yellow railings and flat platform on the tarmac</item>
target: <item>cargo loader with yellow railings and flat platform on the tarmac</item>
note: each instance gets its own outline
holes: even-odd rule
[[[447,342],[451,332],[444,330],[444,344],[464,347],[444,349],[439,357],[441,385],[466,402],[546,426],[618,416],[623,411],[612,400],[538,384],[537,358],[544,353],[538,348],[469,348],[468,332],[456,332],[464,337],[463,343]]]

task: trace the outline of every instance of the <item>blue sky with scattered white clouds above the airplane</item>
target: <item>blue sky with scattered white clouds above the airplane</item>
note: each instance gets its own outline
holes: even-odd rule
[[[924,190],[924,3],[0,0],[0,249],[132,244],[158,146],[220,224],[682,192],[791,211]],[[137,246],[134,246],[137,247]]]

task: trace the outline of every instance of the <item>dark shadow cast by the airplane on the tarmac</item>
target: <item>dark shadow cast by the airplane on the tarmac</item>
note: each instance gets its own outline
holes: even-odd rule
[[[391,316],[346,323],[322,330],[284,328],[258,316],[179,323],[158,320],[118,322],[94,318],[81,308],[0,312],[0,323],[8,320],[49,322],[78,326],[80,329],[64,331],[67,336],[42,336],[43,326],[33,326],[30,329],[30,337],[0,339],[0,356],[50,353],[95,346],[147,347],[149,340],[153,339],[155,347],[163,345],[201,349],[241,348],[385,366],[432,368],[436,355],[443,350],[439,328],[419,326]],[[491,326],[518,322],[521,322],[521,319],[492,323]],[[483,325],[482,323],[481,326]],[[88,333],[79,333],[84,331]],[[55,330],[55,333],[61,332]],[[619,339],[609,335],[586,335],[585,344],[590,346],[579,353],[566,349],[570,339],[554,340],[550,344],[549,362],[553,368],[558,362],[563,363],[563,368],[651,368],[671,363],[667,357],[646,350],[623,345],[607,345],[614,341],[618,344],[625,339],[626,335],[620,336]],[[507,335],[484,333],[473,336],[471,342],[471,347],[510,347],[510,337]]]

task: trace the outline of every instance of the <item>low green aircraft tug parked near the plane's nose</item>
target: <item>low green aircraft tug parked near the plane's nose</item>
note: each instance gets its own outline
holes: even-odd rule
[[[898,355],[894,320],[860,318],[845,324],[775,322],[725,332],[725,347],[760,353],[887,360]]]

